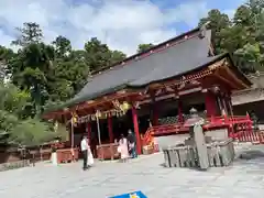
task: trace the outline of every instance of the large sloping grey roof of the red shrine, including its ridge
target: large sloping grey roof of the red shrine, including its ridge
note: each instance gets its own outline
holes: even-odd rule
[[[208,57],[210,44],[211,31],[199,29],[168,40],[90,77],[80,92],[59,108],[91,100],[125,87],[144,87],[200,69],[223,57]]]

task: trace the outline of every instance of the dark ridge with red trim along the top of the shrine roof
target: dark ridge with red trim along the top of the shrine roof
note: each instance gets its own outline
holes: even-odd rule
[[[114,64],[111,65],[111,66],[103,67],[103,68],[101,68],[101,69],[95,70],[95,72],[91,73],[91,76],[90,76],[90,77],[95,77],[95,76],[101,75],[102,73],[106,73],[106,72],[108,72],[108,70],[111,70],[111,69],[113,69],[113,68],[116,68],[116,67],[118,67],[118,66],[124,66],[124,65],[127,65],[128,63],[130,63],[130,62],[132,62],[132,61],[139,61],[139,59],[145,58],[145,57],[147,57],[147,56],[150,56],[150,55],[152,55],[152,54],[160,53],[160,52],[166,50],[166,48],[167,48],[166,45],[169,44],[169,43],[172,43],[172,42],[177,42],[177,41],[178,41],[178,43],[175,43],[175,44],[173,44],[173,45],[169,45],[168,47],[172,47],[172,46],[175,46],[176,44],[186,42],[186,41],[188,41],[188,40],[190,40],[190,38],[193,38],[193,37],[195,37],[195,36],[198,36],[199,34],[197,34],[197,35],[194,35],[194,34],[195,34],[195,33],[198,33],[199,31],[200,31],[200,28],[193,29],[193,30],[190,30],[190,31],[188,31],[188,32],[185,32],[185,33],[183,33],[183,34],[180,34],[180,35],[177,35],[177,36],[175,36],[175,37],[173,37],[173,38],[169,38],[169,40],[167,40],[167,41],[165,41],[165,42],[162,42],[162,43],[160,43],[160,44],[157,44],[157,45],[148,48],[147,51],[144,51],[144,52],[142,52],[142,53],[136,53],[136,54],[134,54],[134,55],[132,55],[132,56],[127,57],[125,59],[123,59],[123,61],[121,61],[121,62],[114,63]],[[190,34],[193,34],[193,35],[191,35],[191,36],[188,36],[188,35],[190,35]],[[188,36],[188,37],[185,38],[185,36]],[[163,48],[164,46],[165,46],[165,48]],[[153,52],[153,51],[156,51],[156,52]]]

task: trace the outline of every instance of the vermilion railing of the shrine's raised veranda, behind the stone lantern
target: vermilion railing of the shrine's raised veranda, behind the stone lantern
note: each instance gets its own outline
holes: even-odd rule
[[[208,131],[216,128],[228,128],[230,138],[241,139],[245,136],[245,134],[250,133],[253,139],[253,131],[252,131],[253,122],[249,116],[235,116],[235,117],[211,117],[206,119],[206,124],[204,125],[204,130]],[[150,145],[153,142],[154,135],[166,135],[172,133],[186,133],[188,132],[189,128],[185,127],[184,123],[173,123],[173,124],[163,124],[151,127],[147,129],[145,135],[143,136],[142,144]],[[248,135],[249,136],[249,135]],[[260,140],[260,138],[257,138]],[[264,143],[264,134],[263,134],[263,143]]]

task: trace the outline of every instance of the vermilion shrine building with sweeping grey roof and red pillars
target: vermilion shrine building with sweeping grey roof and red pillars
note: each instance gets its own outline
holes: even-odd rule
[[[207,120],[205,130],[224,127],[234,135],[238,124],[248,128],[248,116],[233,116],[231,92],[250,86],[228,53],[213,55],[211,31],[201,28],[100,70],[44,118],[68,123],[75,117],[72,143],[78,145],[77,134],[87,132],[99,153],[132,129],[141,153],[155,135],[188,132],[185,120],[191,108]]]

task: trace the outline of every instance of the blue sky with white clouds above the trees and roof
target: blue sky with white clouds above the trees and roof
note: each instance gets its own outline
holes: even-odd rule
[[[24,22],[41,25],[51,43],[63,35],[74,48],[98,37],[111,50],[134,54],[195,28],[211,9],[231,18],[245,0],[0,0],[0,45],[10,46]]]

